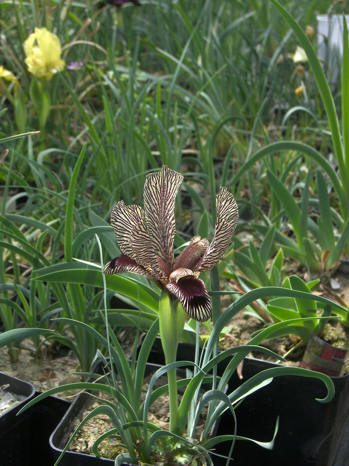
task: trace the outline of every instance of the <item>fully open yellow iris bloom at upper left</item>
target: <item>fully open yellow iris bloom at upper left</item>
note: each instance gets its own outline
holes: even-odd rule
[[[24,41],[23,48],[29,73],[49,80],[64,69],[59,38],[46,27],[35,27],[34,32]]]

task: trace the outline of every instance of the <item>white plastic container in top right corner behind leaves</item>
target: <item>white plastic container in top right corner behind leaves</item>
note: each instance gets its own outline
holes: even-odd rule
[[[325,73],[331,84],[340,78],[343,56],[343,15],[319,14],[317,53],[325,66]],[[346,15],[349,23],[349,15]]]

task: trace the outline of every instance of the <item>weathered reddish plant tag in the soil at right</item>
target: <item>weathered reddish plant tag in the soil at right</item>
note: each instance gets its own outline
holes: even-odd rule
[[[347,350],[336,348],[313,335],[305,350],[301,367],[339,377]]]

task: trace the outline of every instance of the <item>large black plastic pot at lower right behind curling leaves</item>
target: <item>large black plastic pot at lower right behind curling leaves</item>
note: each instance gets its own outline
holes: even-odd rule
[[[153,347],[150,361],[162,354],[161,341]],[[188,360],[193,357],[191,345],[179,344],[177,357]],[[226,363],[218,365],[218,374]],[[231,393],[243,382],[259,372],[280,364],[253,358],[245,358],[243,379],[236,372],[228,383]],[[320,380],[307,377],[281,376],[249,395],[236,407],[237,435],[269,442],[274,434],[279,416],[279,430],[273,450],[266,450],[252,442],[236,441],[231,465],[349,465],[349,374],[331,377],[335,396],[329,403],[319,403],[327,390]],[[232,434],[234,420],[230,412],[221,417],[217,436]],[[230,442],[219,444],[215,452],[228,455]],[[215,466],[226,462],[215,457]]]

